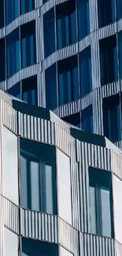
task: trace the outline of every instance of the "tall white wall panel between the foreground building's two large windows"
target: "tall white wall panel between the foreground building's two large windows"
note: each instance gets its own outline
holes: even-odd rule
[[[70,158],[57,149],[58,215],[72,224]]]

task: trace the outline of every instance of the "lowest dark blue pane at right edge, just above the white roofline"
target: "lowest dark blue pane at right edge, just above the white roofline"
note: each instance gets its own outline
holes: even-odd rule
[[[120,95],[103,99],[103,117],[104,135],[113,142],[120,140]]]

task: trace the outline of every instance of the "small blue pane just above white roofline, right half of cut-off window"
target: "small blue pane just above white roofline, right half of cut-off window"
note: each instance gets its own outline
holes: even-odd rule
[[[92,105],[88,106],[86,109],[83,109],[81,117],[83,130],[85,132],[94,132]]]

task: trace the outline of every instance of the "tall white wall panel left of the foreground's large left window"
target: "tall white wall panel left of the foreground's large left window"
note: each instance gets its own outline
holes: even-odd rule
[[[2,129],[3,195],[18,205],[17,136]]]

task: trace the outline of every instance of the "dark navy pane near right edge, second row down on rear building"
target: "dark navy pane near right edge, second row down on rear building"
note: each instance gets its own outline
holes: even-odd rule
[[[100,40],[102,85],[118,80],[116,35]]]

